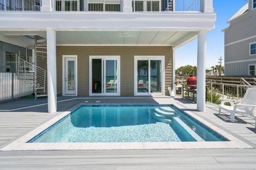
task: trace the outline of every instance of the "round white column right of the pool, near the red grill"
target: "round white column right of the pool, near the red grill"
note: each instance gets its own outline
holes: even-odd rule
[[[206,30],[198,31],[196,94],[198,111],[205,111],[206,33]]]

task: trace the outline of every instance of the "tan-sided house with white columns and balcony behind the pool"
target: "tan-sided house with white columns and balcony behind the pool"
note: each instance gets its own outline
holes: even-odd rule
[[[212,1],[0,0],[0,38],[22,47],[47,40],[47,62],[36,63],[48,71],[48,111],[55,112],[57,93],[168,95],[168,87],[175,88],[175,49],[198,37],[203,111],[206,33],[216,21]]]

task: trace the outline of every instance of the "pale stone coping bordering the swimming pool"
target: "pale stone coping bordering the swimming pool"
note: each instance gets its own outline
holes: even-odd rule
[[[197,121],[206,125],[216,133],[219,133],[228,141],[208,141],[208,142],[132,142],[132,143],[27,143],[30,139],[40,134],[42,131],[58,122],[60,119],[70,114],[72,111],[82,105],[92,105],[78,103],[70,109],[58,113],[47,122],[40,124],[25,135],[15,139],[0,150],[123,150],[123,149],[249,149],[254,148],[248,143],[238,139],[234,135],[213,125],[206,119],[196,115],[193,111],[184,111]],[[108,103],[97,103],[95,105],[108,105]],[[112,104],[113,105],[113,104]],[[134,105],[131,103],[120,104]],[[173,103],[178,109],[187,109],[181,104]]]

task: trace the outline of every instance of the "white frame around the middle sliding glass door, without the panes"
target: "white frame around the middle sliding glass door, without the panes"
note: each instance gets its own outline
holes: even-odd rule
[[[95,94],[92,93],[92,59],[104,59],[104,60],[117,60],[117,92],[116,93],[106,93],[105,91],[100,93],[100,94]],[[104,64],[104,63],[102,63]],[[106,67],[106,65],[104,64],[104,68]],[[103,70],[102,70],[102,75],[105,75],[106,73],[104,73],[103,75]],[[120,78],[121,78],[121,74],[120,74],[120,55],[90,55],[89,56],[89,96],[120,96]],[[102,88],[103,88],[103,84],[102,84]],[[106,88],[104,88],[106,90]]]

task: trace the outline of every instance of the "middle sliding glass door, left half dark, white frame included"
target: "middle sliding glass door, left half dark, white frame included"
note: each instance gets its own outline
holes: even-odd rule
[[[119,95],[119,56],[90,56],[90,95]]]

